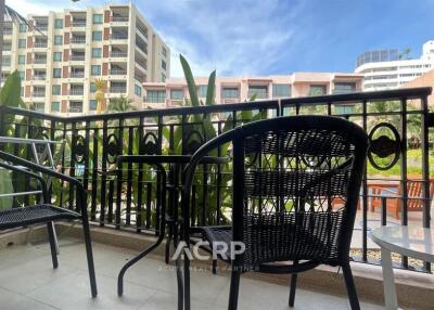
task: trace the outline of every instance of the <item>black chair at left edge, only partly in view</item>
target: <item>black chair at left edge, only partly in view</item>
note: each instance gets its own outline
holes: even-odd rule
[[[86,195],[82,184],[77,179],[59,173],[50,168],[25,160],[23,158],[16,157],[14,155],[11,155],[2,151],[0,151],[0,159],[4,160],[0,162],[0,167],[12,171],[16,171],[18,173],[24,173],[29,178],[36,179],[40,184],[42,193],[42,202],[39,204],[0,211],[0,230],[46,223],[50,238],[51,259],[53,262],[53,268],[56,269],[59,262],[58,262],[58,253],[55,248],[54,229],[52,225],[52,221],[80,219],[82,222],[82,231],[86,243],[90,288],[92,297],[95,297],[98,295],[97,280],[94,274],[92,245],[90,241],[89,221],[88,221],[88,214],[85,201]],[[49,196],[47,182],[39,173],[61,179],[65,182],[68,182],[71,186],[75,186],[76,204],[77,204],[77,210],[79,210],[79,212],[53,206],[51,204],[51,198]]]

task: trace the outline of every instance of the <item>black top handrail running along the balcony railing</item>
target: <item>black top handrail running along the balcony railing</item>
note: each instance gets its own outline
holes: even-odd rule
[[[419,88],[407,88],[396,90],[384,90],[373,92],[358,92],[358,93],[345,93],[345,94],[331,94],[331,95],[318,95],[318,96],[303,96],[303,98],[290,98],[279,100],[264,100],[253,101],[243,103],[230,103],[230,104],[216,104],[207,106],[183,106],[183,107],[168,107],[168,108],[155,108],[145,111],[132,111],[123,113],[106,113],[99,115],[84,115],[74,117],[54,116],[50,114],[43,114],[35,111],[28,111],[18,107],[2,106],[12,113],[23,116],[35,116],[46,118],[48,120],[74,122],[74,121],[92,121],[92,120],[108,120],[113,118],[135,118],[135,117],[155,117],[155,116],[176,116],[180,114],[206,114],[206,113],[225,113],[233,111],[246,111],[246,109],[265,109],[265,108],[280,108],[281,106],[295,106],[297,104],[314,104],[321,102],[330,103],[352,103],[361,102],[369,100],[397,100],[401,98],[416,99],[421,96],[427,96],[432,92],[431,87],[419,87]]]

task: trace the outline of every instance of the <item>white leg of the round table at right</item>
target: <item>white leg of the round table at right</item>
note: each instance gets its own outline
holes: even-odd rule
[[[381,248],[381,266],[383,269],[384,301],[386,309],[399,309],[398,300],[396,297],[391,251],[384,247]]]

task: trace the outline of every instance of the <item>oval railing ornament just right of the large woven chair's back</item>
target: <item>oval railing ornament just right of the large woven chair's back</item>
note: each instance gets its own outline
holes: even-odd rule
[[[398,130],[392,124],[375,125],[369,133],[369,142],[368,159],[374,168],[388,170],[398,162],[401,141]]]

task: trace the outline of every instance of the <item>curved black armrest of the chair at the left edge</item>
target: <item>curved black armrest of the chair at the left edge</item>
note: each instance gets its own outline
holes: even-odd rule
[[[24,166],[24,167],[26,167],[26,168],[28,168],[30,170],[34,170],[34,171],[37,171],[37,172],[41,172],[43,175],[47,175],[47,176],[63,180],[65,182],[68,182],[72,185],[75,185],[76,189],[77,189],[77,192],[78,192],[77,194],[79,194],[79,196],[77,196],[78,207],[81,210],[81,214],[86,212],[86,206],[85,206],[85,201],[84,201],[84,198],[85,198],[85,188],[82,186],[81,182],[78,181],[77,179],[72,178],[69,176],[66,176],[66,175],[63,175],[63,173],[60,173],[60,172],[54,171],[54,170],[52,170],[52,169],[50,169],[48,167],[31,163],[29,160],[20,158],[17,156],[11,155],[11,154],[2,152],[2,151],[0,151],[0,159],[10,162],[13,165]]]

